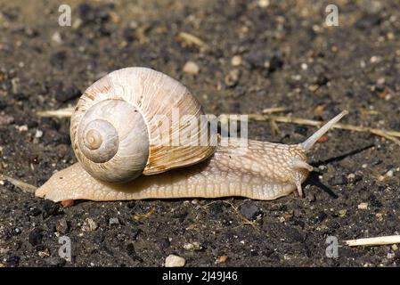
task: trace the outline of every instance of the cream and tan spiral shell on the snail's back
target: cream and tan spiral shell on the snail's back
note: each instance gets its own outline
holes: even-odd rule
[[[200,103],[175,79],[153,69],[119,69],[79,99],[71,118],[72,147],[94,178],[124,183],[213,154],[215,138],[204,131],[208,122],[202,115]]]

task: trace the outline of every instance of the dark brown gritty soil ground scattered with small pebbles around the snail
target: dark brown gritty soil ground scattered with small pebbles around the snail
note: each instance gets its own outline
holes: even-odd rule
[[[216,115],[285,107],[286,115],[326,120],[349,110],[344,123],[399,131],[395,3],[0,0],[0,172],[41,185],[76,162],[69,119],[36,112],[74,106],[97,78],[128,66],[175,77]],[[58,24],[61,4],[72,8],[71,27]],[[324,24],[327,4],[339,7],[338,27]],[[187,61],[199,74],[184,72]],[[274,134],[269,122],[250,122],[249,138],[297,143],[315,130],[278,126]],[[1,180],[0,265],[162,266],[170,254],[186,266],[399,265],[396,246],[344,244],[400,233],[399,145],[344,130],[327,139],[310,154],[318,172],[304,183],[303,199],[62,208]],[[71,240],[71,261],[58,255],[61,236]],[[326,256],[330,236],[339,240],[336,258]]]

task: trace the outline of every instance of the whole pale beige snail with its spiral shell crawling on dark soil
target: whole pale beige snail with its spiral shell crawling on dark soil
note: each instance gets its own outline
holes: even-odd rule
[[[53,174],[36,196],[53,201],[302,196],[301,184],[313,170],[306,152],[346,114],[299,144],[220,137],[207,131],[200,103],[184,85],[153,69],[118,69],[79,98],[70,124],[78,162]],[[176,136],[184,142],[174,142]]]

